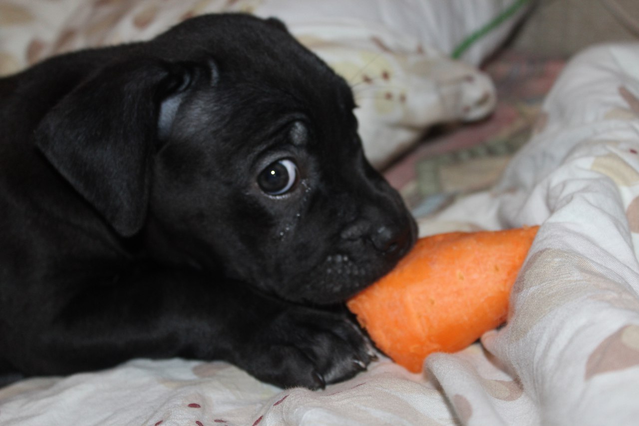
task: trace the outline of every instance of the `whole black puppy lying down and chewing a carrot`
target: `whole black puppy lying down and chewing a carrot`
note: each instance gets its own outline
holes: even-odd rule
[[[354,106],[281,22],[246,15],[0,79],[0,370],[183,356],[318,388],[366,368],[334,305],[415,225]]]

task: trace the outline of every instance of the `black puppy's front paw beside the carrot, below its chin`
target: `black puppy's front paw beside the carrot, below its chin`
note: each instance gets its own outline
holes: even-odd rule
[[[282,388],[324,388],[366,370],[373,346],[345,312],[301,306],[282,312],[256,336],[245,368]]]

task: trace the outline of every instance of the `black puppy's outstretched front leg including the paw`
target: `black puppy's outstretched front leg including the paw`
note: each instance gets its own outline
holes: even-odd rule
[[[183,356],[225,359],[282,387],[319,388],[351,377],[373,357],[344,312],[289,304],[237,281],[211,282],[197,272],[156,267],[84,286],[35,331],[16,362],[31,374]]]

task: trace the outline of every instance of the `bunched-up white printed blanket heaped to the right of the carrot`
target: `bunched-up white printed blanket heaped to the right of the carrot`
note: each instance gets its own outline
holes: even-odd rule
[[[500,184],[439,217],[543,224],[508,324],[427,366],[463,423],[637,424],[639,45],[581,53],[543,111]]]

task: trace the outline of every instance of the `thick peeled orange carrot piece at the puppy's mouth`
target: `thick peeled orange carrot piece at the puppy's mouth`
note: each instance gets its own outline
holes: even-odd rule
[[[376,345],[420,372],[505,321],[512,284],[539,226],[419,239],[389,274],[348,301]]]

